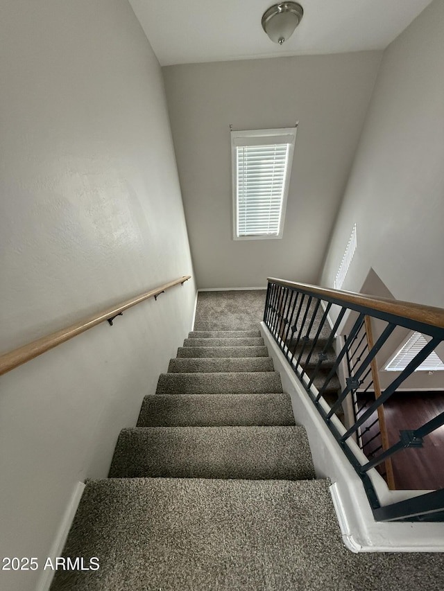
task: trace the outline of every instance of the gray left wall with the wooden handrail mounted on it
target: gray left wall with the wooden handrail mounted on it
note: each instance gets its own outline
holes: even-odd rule
[[[0,351],[192,274],[162,74],[126,0],[13,0],[0,19]],[[1,379],[0,556],[49,552],[76,482],[191,325],[162,294]],[[1,572],[2,589],[35,589]]]

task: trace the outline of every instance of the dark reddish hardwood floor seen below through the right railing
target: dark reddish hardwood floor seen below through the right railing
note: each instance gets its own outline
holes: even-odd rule
[[[369,403],[364,400],[361,403],[364,412]],[[400,430],[416,429],[444,412],[444,392],[399,392],[388,400],[384,409],[388,441],[393,445],[400,439]],[[370,418],[364,423],[363,432],[371,422]],[[378,430],[376,423],[363,434],[365,452],[380,446]],[[422,448],[408,448],[393,455],[392,466],[398,490],[444,488],[444,427],[425,437]],[[384,471],[384,466],[380,471]]]

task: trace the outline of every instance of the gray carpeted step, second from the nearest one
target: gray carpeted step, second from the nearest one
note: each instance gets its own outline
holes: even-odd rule
[[[314,478],[305,427],[135,427],[119,435],[110,478]]]

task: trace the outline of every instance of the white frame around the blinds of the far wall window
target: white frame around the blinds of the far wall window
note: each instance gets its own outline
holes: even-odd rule
[[[291,179],[291,170],[293,168],[293,155],[296,143],[296,132],[298,125],[295,127],[281,127],[278,129],[269,130],[242,130],[231,132],[231,166],[232,166],[232,238],[233,240],[280,240],[284,233],[285,213],[287,211],[287,197],[289,194],[289,186]],[[289,138],[288,142],[282,141],[285,137]],[[264,139],[264,143],[259,143],[259,139]],[[250,139],[251,143],[248,143]],[[268,139],[268,142],[266,141]],[[238,200],[237,200],[237,148],[248,145],[275,145],[276,141],[273,139],[280,139],[280,143],[289,143],[289,152],[287,156],[286,177],[284,182],[284,190],[282,197],[282,205],[280,209],[280,225],[277,234],[251,234],[249,236],[238,236]]]

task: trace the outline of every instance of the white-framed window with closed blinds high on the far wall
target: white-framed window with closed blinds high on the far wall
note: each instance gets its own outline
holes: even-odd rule
[[[282,238],[296,127],[231,132],[233,238]]]

